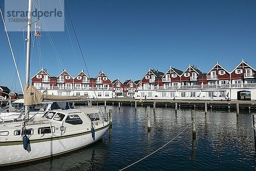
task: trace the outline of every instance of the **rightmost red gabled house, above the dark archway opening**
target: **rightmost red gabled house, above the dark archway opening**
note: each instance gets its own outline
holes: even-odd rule
[[[241,63],[230,73],[231,83],[241,87],[241,84],[255,83],[256,71],[242,59]]]

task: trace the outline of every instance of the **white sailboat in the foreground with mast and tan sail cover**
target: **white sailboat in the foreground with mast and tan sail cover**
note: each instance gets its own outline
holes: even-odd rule
[[[31,22],[31,12],[32,0],[29,0],[25,40],[24,119],[0,124],[0,167],[45,159],[83,148],[101,139],[109,129],[108,119],[100,117],[98,109],[71,109],[65,101],[71,98],[82,99],[84,96],[45,95],[29,85],[31,24],[35,23]],[[43,100],[52,101],[50,110],[43,117],[29,118],[29,105],[40,104]]]

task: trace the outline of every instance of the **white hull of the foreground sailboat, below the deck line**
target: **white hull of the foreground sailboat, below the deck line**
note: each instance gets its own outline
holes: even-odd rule
[[[31,140],[27,150],[24,150],[22,142],[16,142],[18,145],[14,145],[15,142],[9,142],[10,145],[0,143],[0,166],[44,159],[85,147],[101,139],[108,128],[109,125],[105,125],[96,129],[94,139],[91,131],[87,131],[76,135],[52,136],[49,140]]]

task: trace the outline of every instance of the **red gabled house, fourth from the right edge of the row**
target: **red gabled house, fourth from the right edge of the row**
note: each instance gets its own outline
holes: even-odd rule
[[[162,82],[163,87],[178,87],[181,82],[181,75],[183,71],[170,67],[170,69],[163,75]]]

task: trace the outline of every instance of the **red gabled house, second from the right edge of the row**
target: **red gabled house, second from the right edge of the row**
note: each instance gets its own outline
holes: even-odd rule
[[[215,85],[215,84],[229,84],[230,73],[218,64],[218,61],[207,73],[207,81],[204,84]]]

